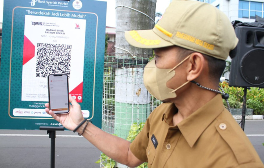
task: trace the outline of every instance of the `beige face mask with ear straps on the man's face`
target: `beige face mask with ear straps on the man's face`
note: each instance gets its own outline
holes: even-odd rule
[[[144,68],[143,80],[144,85],[155,98],[164,101],[168,98],[175,98],[176,91],[185,86],[189,81],[182,84],[177,89],[168,88],[166,83],[175,75],[174,69],[186,61],[191,55],[187,56],[178,65],[172,69],[160,69],[155,65],[155,60],[151,60]]]

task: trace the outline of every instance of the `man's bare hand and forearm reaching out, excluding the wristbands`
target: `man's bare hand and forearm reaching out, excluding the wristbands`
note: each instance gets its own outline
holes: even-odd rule
[[[72,105],[70,105],[70,112],[68,114],[54,114],[48,109],[48,103],[45,104],[47,107],[45,110],[55,120],[62,123],[64,127],[74,130],[84,120],[84,117],[82,116],[81,106],[75,101],[74,98],[72,98],[71,95],[69,95],[69,101]],[[143,163],[143,161],[136,158],[136,156],[134,156],[134,154],[130,151],[129,141],[106,133],[92,123],[88,123],[88,126],[86,127],[82,136],[89,140],[104,154],[119,163],[129,165],[129,167],[137,167]]]

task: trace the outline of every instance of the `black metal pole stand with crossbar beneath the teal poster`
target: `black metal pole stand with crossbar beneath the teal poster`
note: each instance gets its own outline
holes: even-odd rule
[[[55,138],[56,138],[56,131],[64,131],[64,127],[40,126],[39,130],[46,130],[47,134],[49,134],[49,138],[51,138],[51,144],[50,144],[50,168],[55,168]]]

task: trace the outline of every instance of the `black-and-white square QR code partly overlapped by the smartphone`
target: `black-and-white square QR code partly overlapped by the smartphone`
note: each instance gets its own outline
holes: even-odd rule
[[[37,43],[36,77],[68,74],[70,77],[71,45]]]

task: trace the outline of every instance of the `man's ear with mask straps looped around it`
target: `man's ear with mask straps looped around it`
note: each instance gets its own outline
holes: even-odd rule
[[[187,80],[193,81],[200,76],[205,69],[205,58],[199,52],[191,54],[187,65]]]

